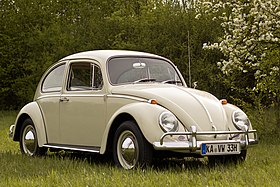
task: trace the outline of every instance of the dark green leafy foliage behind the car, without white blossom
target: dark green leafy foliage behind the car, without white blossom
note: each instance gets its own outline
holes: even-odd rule
[[[0,110],[31,101],[52,63],[85,50],[156,53],[171,59],[189,82],[188,33],[191,81],[198,82],[198,89],[241,107],[275,104],[269,94],[248,92],[255,84],[250,73],[221,73],[216,63],[222,54],[202,45],[218,41],[222,28],[211,15],[195,19],[197,9],[195,1],[0,0]]]

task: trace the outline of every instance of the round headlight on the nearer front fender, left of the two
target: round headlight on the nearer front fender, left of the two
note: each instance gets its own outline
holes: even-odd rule
[[[164,132],[175,132],[178,130],[178,120],[171,112],[161,113],[159,124]]]

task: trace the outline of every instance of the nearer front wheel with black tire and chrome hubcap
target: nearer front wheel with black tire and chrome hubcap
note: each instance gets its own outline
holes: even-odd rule
[[[152,157],[153,147],[145,139],[137,124],[134,121],[123,122],[113,140],[115,164],[124,169],[133,169],[150,165]]]

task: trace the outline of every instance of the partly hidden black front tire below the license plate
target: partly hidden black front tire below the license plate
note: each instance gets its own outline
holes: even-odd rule
[[[246,160],[247,150],[242,150],[239,155],[228,156],[208,156],[208,163],[210,165],[215,164],[238,164]]]

